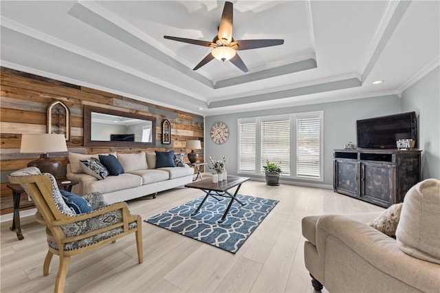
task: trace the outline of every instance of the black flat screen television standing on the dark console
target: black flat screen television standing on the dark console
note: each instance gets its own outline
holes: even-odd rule
[[[360,148],[396,149],[396,141],[403,139],[415,140],[415,148],[417,148],[415,112],[358,120],[356,124]]]

